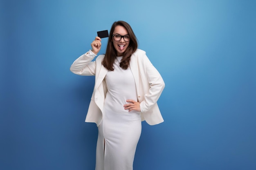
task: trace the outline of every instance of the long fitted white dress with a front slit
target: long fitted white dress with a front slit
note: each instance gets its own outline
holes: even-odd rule
[[[141,135],[140,112],[124,110],[127,99],[137,101],[137,91],[130,68],[119,66],[121,58],[117,57],[114,71],[108,71],[105,77],[108,92],[98,127],[96,170],[132,170]]]

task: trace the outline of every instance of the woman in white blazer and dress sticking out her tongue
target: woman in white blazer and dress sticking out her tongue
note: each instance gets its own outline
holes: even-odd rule
[[[70,70],[95,75],[85,119],[99,129],[95,169],[132,170],[141,121],[150,125],[164,121],[157,106],[164,81],[146,53],[137,49],[137,38],[124,21],[113,23],[106,54],[93,62],[101,49],[101,38],[96,37],[91,46]]]

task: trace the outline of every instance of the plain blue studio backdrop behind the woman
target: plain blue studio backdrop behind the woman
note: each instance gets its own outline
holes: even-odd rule
[[[128,22],[161,73],[164,123],[142,123],[134,170],[256,169],[256,1],[1,0],[0,169],[93,170],[94,77],[72,62]],[[103,39],[100,53],[105,53]]]

